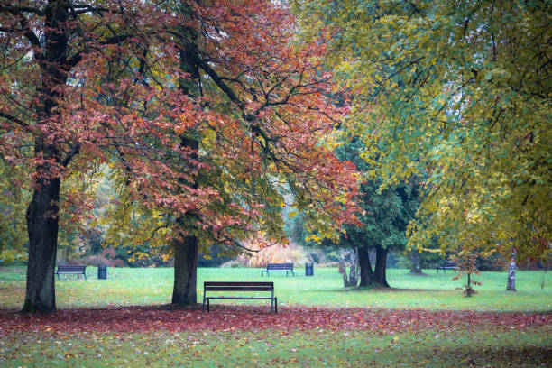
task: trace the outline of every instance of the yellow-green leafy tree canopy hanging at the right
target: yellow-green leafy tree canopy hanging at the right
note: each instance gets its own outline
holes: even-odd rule
[[[328,62],[357,92],[351,128],[374,175],[428,175],[410,246],[438,235],[444,251],[547,256],[549,2],[294,5],[312,37],[330,30]]]

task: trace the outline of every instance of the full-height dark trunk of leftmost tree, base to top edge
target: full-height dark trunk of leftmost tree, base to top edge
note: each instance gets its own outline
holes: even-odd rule
[[[41,50],[40,103],[37,106],[38,124],[51,124],[61,91],[66,84],[70,66],[67,64],[68,3],[50,0],[45,14],[44,46]],[[38,136],[34,143],[34,157],[60,164],[60,152],[55,143],[45,143]],[[72,156],[68,156],[69,159]],[[63,160],[63,165],[70,160]],[[36,168],[36,182],[32,200],[27,207],[29,233],[29,262],[23,312],[51,313],[56,310],[54,268],[58,250],[60,174],[54,163],[43,163]]]

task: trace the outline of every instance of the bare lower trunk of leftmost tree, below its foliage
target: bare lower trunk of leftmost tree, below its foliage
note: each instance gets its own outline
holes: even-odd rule
[[[60,178],[37,183],[27,208],[29,262],[23,312],[56,310],[54,268],[58,249]]]

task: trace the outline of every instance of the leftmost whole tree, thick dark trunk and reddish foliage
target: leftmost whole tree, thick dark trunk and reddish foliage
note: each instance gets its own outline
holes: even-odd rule
[[[117,50],[139,51],[136,45],[161,21],[154,10],[132,1],[0,3],[0,152],[11,170],[32,168],[24,312],[55,310],[62,179],[106,161],[122,145],[148,151],[135,115],[108,114],[113,104],[102,99],[103,87],[91,87],[106,70],[95,67],[109,65]],[[112,96],[128,100],[128,86],[108,87],[116,89]]]

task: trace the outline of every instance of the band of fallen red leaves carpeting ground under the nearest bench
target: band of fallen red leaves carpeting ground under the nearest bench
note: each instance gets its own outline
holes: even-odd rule
[[[63,309],[51,315],[22,315],[0,309],[0,336],[14,331],[148,332],[278,329],[370,330],[378,335],[437,329],[526,330],[552,325],[552,314],[517,312],[428,311],[424,309],[313,308],[293,306],[270,314],[253,306],[197,308],[134,306]]]

